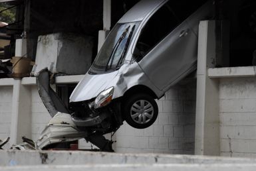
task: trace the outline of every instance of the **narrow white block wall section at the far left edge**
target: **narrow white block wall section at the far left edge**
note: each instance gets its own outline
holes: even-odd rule
[[[0,87],[0,139],[10,136],[13,87]]]

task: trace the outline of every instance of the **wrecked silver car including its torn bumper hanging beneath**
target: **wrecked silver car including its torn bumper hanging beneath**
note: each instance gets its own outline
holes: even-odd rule
[[[181,4],[142,0],[132,7],[70,95],[70,109],[45,82],[47,71],[41,72],[39,94],[53,121],[37,146],[85,138],[111,150],[112,142],[103,135],[123,121],[137,129],[150,127],[158,117],[155,99],[196,69],[198,24],[212,16],[211,1]]]

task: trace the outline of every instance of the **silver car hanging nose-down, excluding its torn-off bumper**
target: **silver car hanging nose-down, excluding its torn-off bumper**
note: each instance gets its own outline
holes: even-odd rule
[[[176,6],[174,1],[140,1],[112,28],[70,96],[70,102],[88,106],[74,115],[76,125],[87,127],[91,113],[103,115],[100,122],[112,118],[118,125],[124,119],[138,129],[156,121],[154,99],[195,70],[197,27],[211,15],[209,2],[190,16]]]

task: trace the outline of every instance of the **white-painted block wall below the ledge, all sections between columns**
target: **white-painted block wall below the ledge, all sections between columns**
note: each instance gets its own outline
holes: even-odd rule
[[[242,72],[243,68],[239,70]],[[235,70],[235,74],[237,72]],[[39,97],[37,86],[25,86],[31,90],[31,137],[37,140],[51,117]],[[1,86],[0,97],[0,139],[5,139],[10,136],[13,86]],[[193,154],[195,80],[172,87],[157,103],[160,114],[152,127],[139,130],[122,125],[116,133],[117,152]],[[219,120],[220,137],[216,139],[220,139],[221,156],[255,157],[254,76],[219,79]]]

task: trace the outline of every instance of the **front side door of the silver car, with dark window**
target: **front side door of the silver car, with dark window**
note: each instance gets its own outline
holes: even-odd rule
[[[195,66],[197,36],[166,4],[142,28],[134,58],[151,82],[166,91]]]

